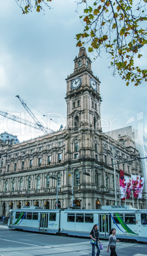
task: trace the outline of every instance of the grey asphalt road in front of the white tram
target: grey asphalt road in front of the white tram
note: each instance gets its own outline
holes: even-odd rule
[[[106,252],[108,241],[102,241]],[[91,255],[90,239],[70,238],[32,232],[12,231],[0,226],[0,256],[86,256]],[[141,243],[117,243],[118,256],[146,256],[147,245]]]

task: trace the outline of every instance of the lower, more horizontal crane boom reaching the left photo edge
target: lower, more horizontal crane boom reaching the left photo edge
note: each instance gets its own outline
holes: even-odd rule
[[[41,129],[42,125],[40,127],[38,124],[36,124],[34,122],[30,122],[30,121],[25,120],[23,118],[16,117],[16,115],[11,115],[10,113],[4,112],[4,111],[0,111],[0,115],[2,115],[3,117],[9,118],[9,119],[11,119],[13,121],[16,121],[16,122],[18,122],[20,124],[25,124],[25,125],[28,125],[30,127],[35,128],[35,129],[42,130]],[[47,128],[47,127],[44,127],[44,131],[46,131],[46,134],[54,132],[53,130],[51,130],[51,129]]]

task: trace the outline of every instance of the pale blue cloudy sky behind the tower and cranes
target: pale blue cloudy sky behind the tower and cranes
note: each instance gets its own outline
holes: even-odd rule
[[[44,126],[56,131],[66,125],[66,81],[74,71],[78,55],[75,34],[82,31],[74,0],[53,0],[53,9],[44,13],[34,10],[29,15],[13,1],[2,1],[0,9],[0,111],[31,120],[15,97],[20,95]],[[87,48],[87,46],[86,46]],[[146,68],[144,57],[137,60]],[[88,53],[93,60],[92,53]],[[93,73],[101,81],[101,119],[103,131],[132,125],[147,129],[146,85],[129,85],[108,69],[109,59],[101,53],[92,64]],[[43,117],[45,115],[46,117]],[[52,119],[52,120],[51,120]],[[42,135],[42,132],[0,116],[0,133],[10,132],[20,141]]]

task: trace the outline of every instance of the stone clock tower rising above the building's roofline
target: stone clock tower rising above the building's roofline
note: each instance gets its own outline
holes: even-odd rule
[[[81,47],[74,59],[74,73],[67,77],[67,129],[101,130],[99,79],[93,75],[91,60]]]

